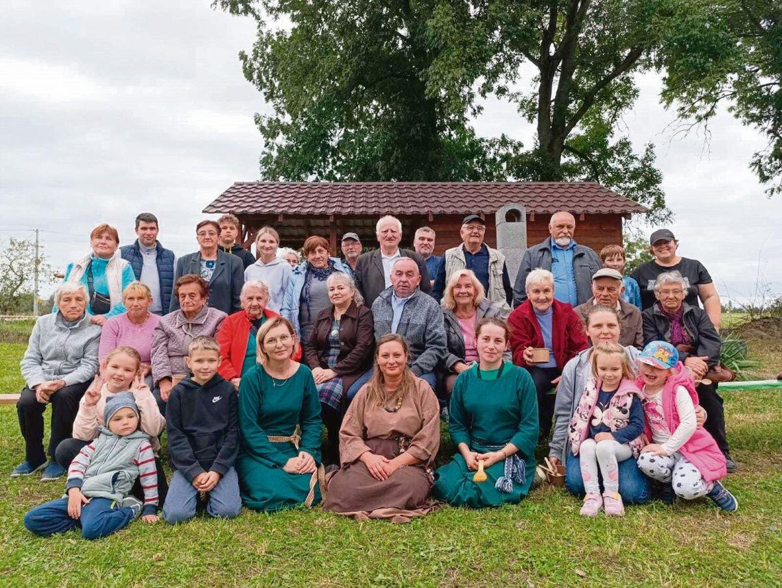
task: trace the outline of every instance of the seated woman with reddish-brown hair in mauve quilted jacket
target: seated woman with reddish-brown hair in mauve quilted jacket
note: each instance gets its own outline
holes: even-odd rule
[[[237,258],[239,259],[239,258]],[[188,274],[174,283],[179,310],[160,319],[152,337],[152,381],[160,414],[166,414],[168,395],[190,373],[185,357],[193,337],[214,337],[225,313],[206,306],[209,285],[201,276]]]

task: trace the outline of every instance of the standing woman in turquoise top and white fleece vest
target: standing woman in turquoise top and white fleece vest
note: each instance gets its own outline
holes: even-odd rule
[[[136,279],[131,264],[126,262],[117,248],[120,235],[117,229],[106,223],[98,225],[90,233],[92,253],[69,263],[64,282],[84,284],[88,291],[87,314],[95,325],[125,312],[122,304],[124,289]],[[52,314],[57,312],[55,301]]]

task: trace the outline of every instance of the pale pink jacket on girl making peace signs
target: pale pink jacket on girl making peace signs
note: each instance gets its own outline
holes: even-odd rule
[[[155,397],[152,396],[152,392],[149,391],[149,387],[145,383],[134,383],[130,391],[135,398],[136,406],[138,406],[138,412],[141,416],[141,426],[139,428],[142,432],[149,435],[152,451],[157,454],[160,451],[160,441],[157,439],[157,436],[163,433],[163,429],[166,427],[166,419],[160,414]],[[100,400],[95,406],[86,404],[86,395],[81,397],[79,412],[77,412],[74,420],[74,432],[71,433],[74,439],[91,441],[98,437],[98,427],[106,426],[106,423],[103,422],[103,413],[106,412],[106,398],[109,397],[109,394],[114,393],[109,392],[109,387],[103,384],[100,390]]]

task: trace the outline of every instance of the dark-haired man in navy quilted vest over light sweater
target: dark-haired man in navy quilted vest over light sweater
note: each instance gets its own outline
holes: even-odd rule
[[[131,264],[136,280],[145,283],[152,293],[149,312],[164,315],[171,304],[174,290],[174,268],[177,265],[174,251],[163,248],[157,240],[157,217],[142,212],[136,217],[136,239],[132,245],[120,247],[120,255]]]

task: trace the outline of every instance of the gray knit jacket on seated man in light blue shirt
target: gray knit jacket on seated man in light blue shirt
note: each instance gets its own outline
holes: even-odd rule
[[[391,294],[393,287],[383,290],[372,303],[372,316],[375,319],[375,340],[391,332],[393,308]],[[396,328],[410,346],[410,367],[416,376],[433,372],[446,355],[445,325],[443,311],[437,301],[415,290],[404,305],[399,326]]]

